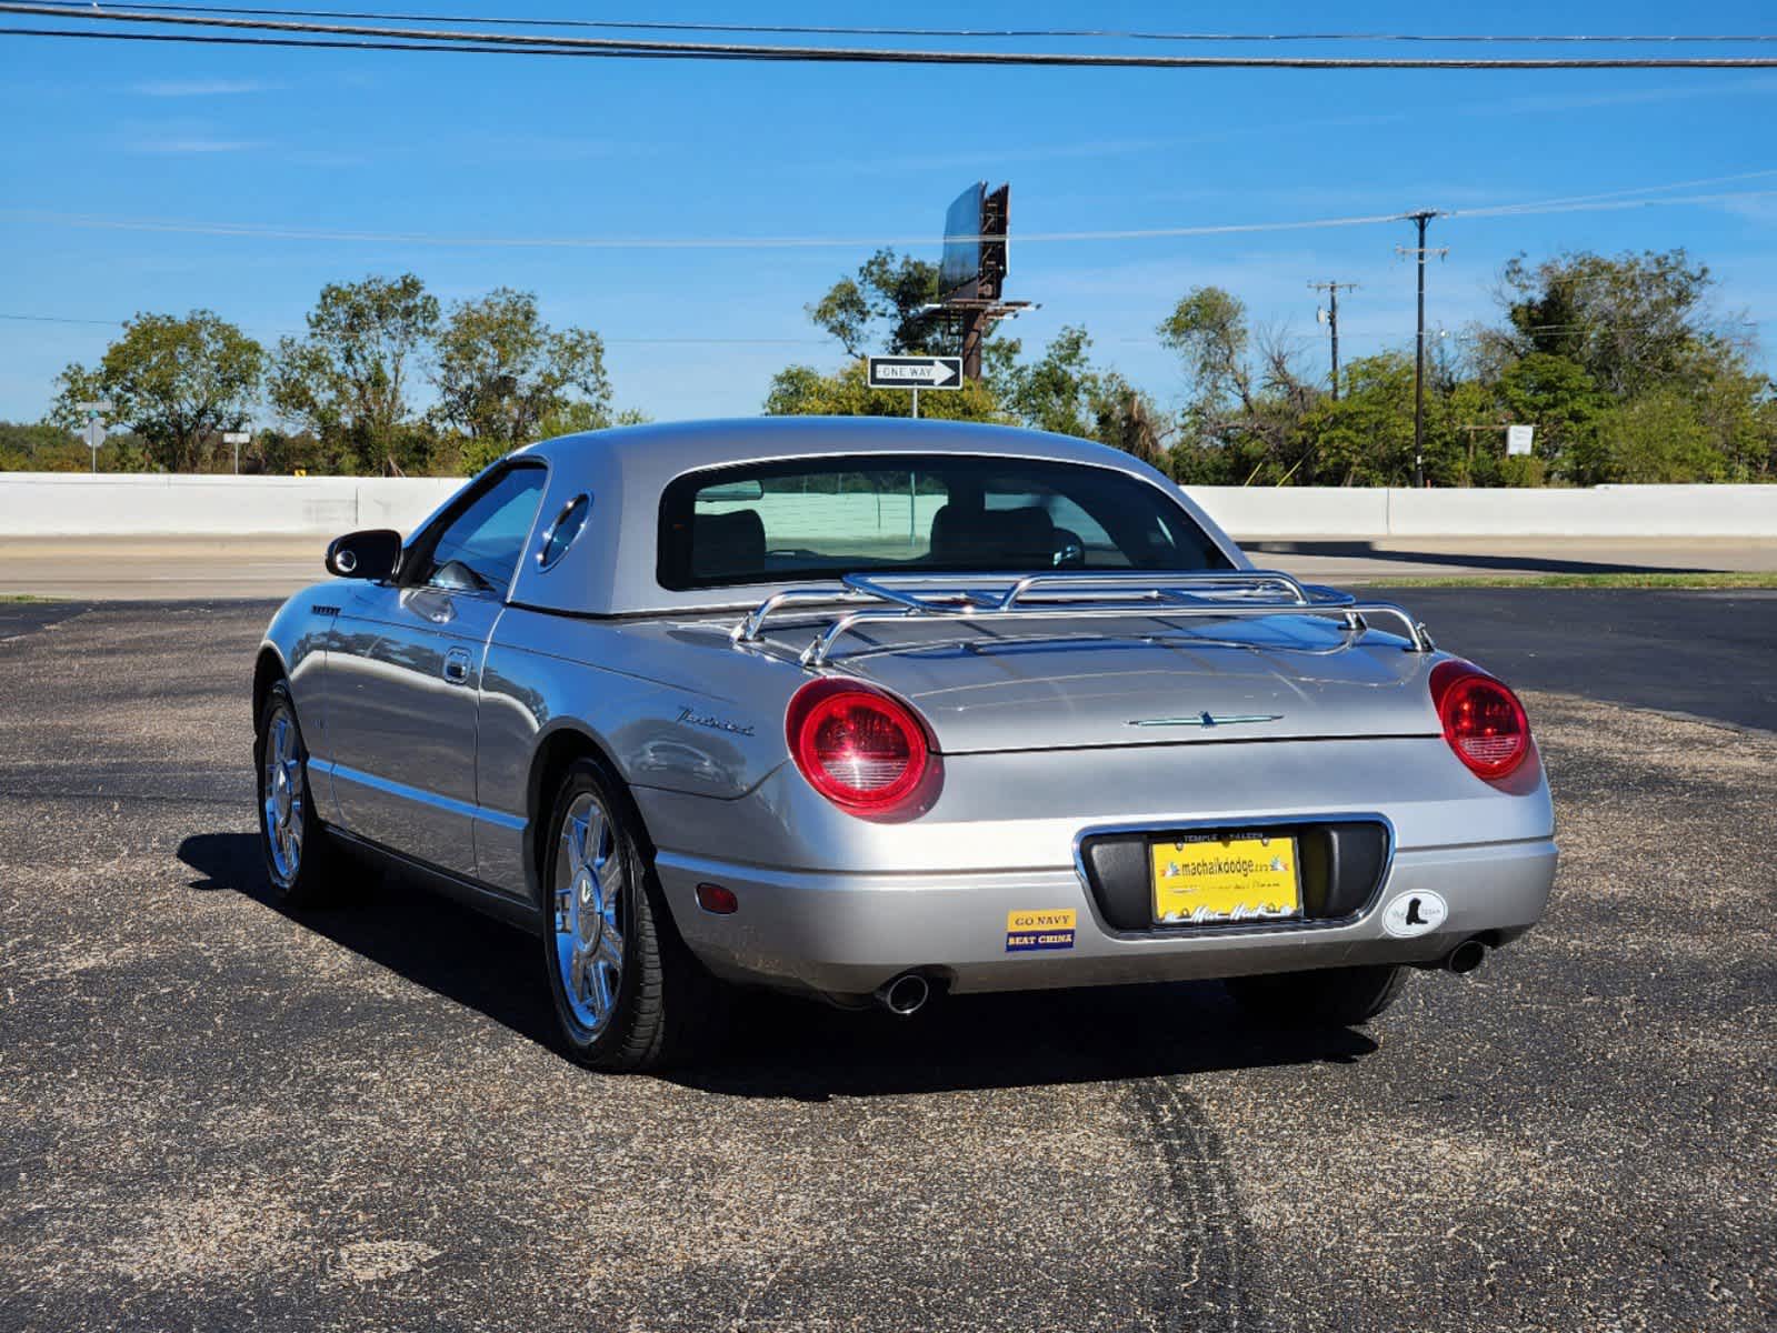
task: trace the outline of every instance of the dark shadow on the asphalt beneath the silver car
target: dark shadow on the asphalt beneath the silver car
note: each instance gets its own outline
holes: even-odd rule
[[[233,890],[538,1045],[560,1050],[519,930],[393,874],[348,866],[363,896],[286,912],[272,901],[256,834],[194,834],[192,889]],[[912,1018],[736,990],[697,1059],[659,1077],[727,1097],[833,1097],[1112,1082],[1207,1070],[1351,1063],[1375,1042],[1351,1029],[1285,1031],[1240,1017],[1219,983],[1093,986],[938,997]]]

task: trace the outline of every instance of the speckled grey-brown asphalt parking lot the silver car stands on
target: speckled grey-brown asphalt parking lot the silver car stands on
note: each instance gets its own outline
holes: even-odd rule
[[[1697,597],[1404,594],[1564,862],[1370,1029],[746,999],[627,1079],[501,926],[265,905],[267,604],[0,606],[0,1328],[1770,1329],[1777,599]]]

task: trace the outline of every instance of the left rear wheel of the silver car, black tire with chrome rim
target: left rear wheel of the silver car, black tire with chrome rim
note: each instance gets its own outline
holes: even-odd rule
[[[569,1056],[608,1074],[682,1061],[718,983],[673,928],[627,791],[579,759],[546,832],[542,960]]]

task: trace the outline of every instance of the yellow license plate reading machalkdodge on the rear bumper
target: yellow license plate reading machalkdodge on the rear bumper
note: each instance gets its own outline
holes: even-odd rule
[[[1215,926],[1303,915],[1295,839],[1287,834],[1192,834],[1148,850],[1155,924]]]

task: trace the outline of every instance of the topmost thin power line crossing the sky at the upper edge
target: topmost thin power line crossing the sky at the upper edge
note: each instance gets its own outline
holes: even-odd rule
[[[91,0],[50,0],[57,9],[94,9]],[[1429,43],[1429,44],[1692,44],[1692,43],[1770,43],[1777,34],[1425,34],[1425,32],[1153,32],[1143,28],[913,28],[913,27],[844,27],[807,23],[689,23],[661,20],[585,20],[585,18],[512,18],[482,14],[386,12],[363,9],[283,9],[268,5],[174,5],[133,4],[131,9],[174,14],[252,14],[265,18],[327,18],[377,20],[398,23],[478,23],[485,27],[515,28],[595,28],[606,32],[748,32],[812,37],[1086,37],[1116,41],[1167,43],[1262,43],[1262,41],[1374,41],[1374,43]]]

